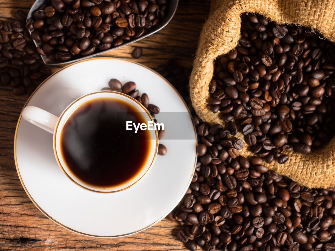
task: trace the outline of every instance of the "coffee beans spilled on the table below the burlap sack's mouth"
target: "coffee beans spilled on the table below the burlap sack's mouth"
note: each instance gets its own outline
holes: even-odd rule
[[[194,251],[335,250],[335,189],[309,189],[239,155],[232,128],[193,118],[198,163],[183,203],[170,217]]]

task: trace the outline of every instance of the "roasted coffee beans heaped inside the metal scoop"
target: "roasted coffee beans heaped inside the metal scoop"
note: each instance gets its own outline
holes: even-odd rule
[[[138,38],[166,16],[167,0],[51,0],[26,27],[51,61],[105,51]]]

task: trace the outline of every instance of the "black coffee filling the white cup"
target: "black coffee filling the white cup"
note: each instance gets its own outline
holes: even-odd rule
[[[114,98],[90,100],[65,122],[60,145],[70,171],[86,184],[113,187],[135,177],[149,157],[147,130],[126,131],[126,121],[147,123],[141,112]]]

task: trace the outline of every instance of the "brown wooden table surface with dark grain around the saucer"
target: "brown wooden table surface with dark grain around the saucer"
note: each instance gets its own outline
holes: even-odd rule
[[[28,12],[33,2],[0,0],[0,19],[13,19],[18,9]],[[180,0],[176,15],[161,31],[103,56],[128,58],[151,68],[177,58],[190,67],[209,4],[209,0]],[[143,48],[137,60],[131,58],[135,46]],[[100,239],[70,232],[44,216],[23,190],[13,157],[15,127],[27,98],[0,87],[0,250],[186,250],[175,237],[180,225],[166,219],[129,237]]]

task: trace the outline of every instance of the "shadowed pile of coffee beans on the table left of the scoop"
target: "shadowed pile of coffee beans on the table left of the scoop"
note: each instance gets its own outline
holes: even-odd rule
[[[10,86],[14,95],[28,96],[51,74],[43,65],[25,28],[26,13],[18,10],[16,21],[0,21],[0,85]]]

